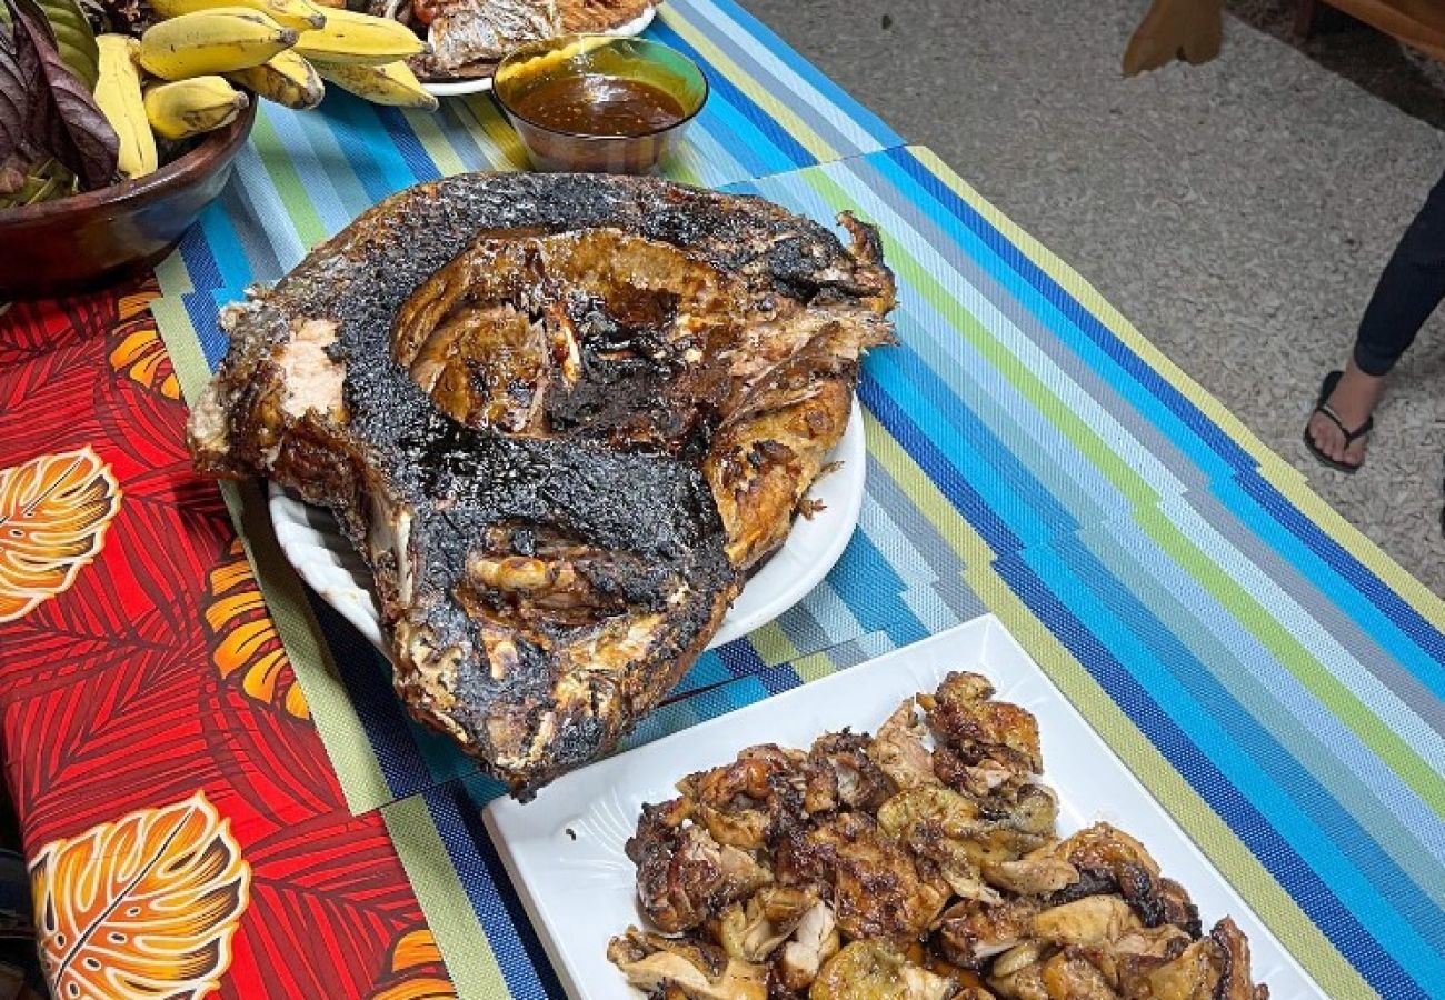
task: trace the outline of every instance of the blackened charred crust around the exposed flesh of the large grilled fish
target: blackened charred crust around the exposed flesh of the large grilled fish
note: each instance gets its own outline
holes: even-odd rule
[[[604,406],[568,410],[568,400],[551,400],[549,412],[577,432],[519,436],[468,426],[397,364],[393,324],[434,275],[480,253],[483,240],[542,246],[559,234],[608,230],[673,247],[741,289],[749,305],[736,321],[740,328],[790,316],[788,322],[821,331],[799,350],[803,361],[795,363],[792,380],[767,392],[776,396],[775,410],[828,408],[828,419],[815,413],[801,425],[805,438],[809,426],[822,434],[770,451],[773,439],[760,438],[776,431],[770,413],[737,410],[724,435],[743,454],[812,448],[821,455],[845,423],[847,409],[842,419],[835,410],[848,406],[857,351],[890,337],[883,315],[893,283],[877,237],[851,218],[847,224],[851,249],[759,198],[639,178],[461,175],[410,188],[364,212],[273,289],[224,314],[231,350],[192,416],[197,467],[217,475],[266,474],[329,506],[371,564],[403,701],[526,795],[614,746],[676,684],[740,590],[746,566],[737,546],[733,558],[728,552],[728,530],[740,529],[724,525],[714,493],[725,477],[709,484],[705,474],[708,444],[728,413],[702,406],[705,426],[689,423],[675,448],[626,448],[605,435],[588,436],[582,431],[592,415],[617,415]],[[318,321],[331,338],[325,361],[344,373],[340,399],[324,412],[290,412],[288,351],[298,329]],[[662,368],[649,374],[665,377]],[[850,392],[819,390],[825,383]],[[757,474],[746,464],[736,471]],[[816,462],[798,462],[793,480],[814,474]],[[766,516],[790,517],[769,496]],[[782,500],[793,501],[786,491]],[[747,503],[730,504],[733,522],[740,517],[734,507],[749,510]],[[407,539],[380,543],[379,535],[397,525]],[[636,621],[646,623],[646,652],[624,669],[591,669],[574,662],[588,649],[575,630],[545,621],[516,626],[497,601],[464,607],[458,591],[468,556],[501,525],[540,526],[594,555],[626,556],[611,568],[597,558],[577,566],[598,600],[633,601]],[[754,530],[746,558],[762,558],[785,533]],[[397,552],[412,565],[399,565]],[[639,577],[637,559],[653,572]],[[656,592],[662,581],[681,581],[685,592],[663,603]],[[501,616],[500,632],[487,633],[477,616],[493,613]],[[488,656],[487,643],[501,633],[504,656]]]

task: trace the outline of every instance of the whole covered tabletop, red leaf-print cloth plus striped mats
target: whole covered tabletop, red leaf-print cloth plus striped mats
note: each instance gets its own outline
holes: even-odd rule
[[[730,0],[650,30],[714,84],[666,172],[877,223],[902,342],[864,367],[838,566],[633,741],[993,611],[1331,994],[1445,983],[1445,605]],[[191,994],[556,996],[481,828],[496,785],[406,721],[260,491],[197,480],[182,438],[218,305],[392,191],[520,166],[487,98],[267,107],[153,279],[0,315],[0,734],[53,977],[101,957]],[[91,931],[152,905],[202,961]]]

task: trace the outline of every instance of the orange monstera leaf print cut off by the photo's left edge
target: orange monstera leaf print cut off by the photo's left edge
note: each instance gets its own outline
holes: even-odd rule
[[[0,468],[0,621],[68,590],[117,510],[120,484],[90,448]]]

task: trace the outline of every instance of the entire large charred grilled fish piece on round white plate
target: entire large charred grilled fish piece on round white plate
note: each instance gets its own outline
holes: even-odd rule
[[[842,223],[642,178],[410,188],[225,311],[197,467],[329,506],[400,698],[526,795],[616,746],[786,536],[892,338]]]

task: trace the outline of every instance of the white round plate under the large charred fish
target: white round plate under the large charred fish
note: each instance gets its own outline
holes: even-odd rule
[[[828,457],[838,468],[814,483],[809,497],[824,507],[793,522],[788,540],[753,574],[733,601],[708,649],[760,629],[801,601],[828,575],[858,525],[867,477],[867,445],[858,400],[848,428]],[[381,616],[371,594],[371,571],[341,533],[329,510],[312,507],[295,493],[270,484],[270,514],[282,552],[306,584],[341,617],[387,655]]]

